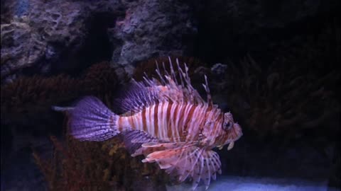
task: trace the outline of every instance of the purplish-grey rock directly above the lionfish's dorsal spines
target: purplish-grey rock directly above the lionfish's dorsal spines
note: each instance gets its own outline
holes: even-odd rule
[[[120,45],[112,62],[127,68],[156,56],[182,55],[190,49],[197,28],[190,7],[178,1],[134,1],[126,4],[126,15],[110,30]]]

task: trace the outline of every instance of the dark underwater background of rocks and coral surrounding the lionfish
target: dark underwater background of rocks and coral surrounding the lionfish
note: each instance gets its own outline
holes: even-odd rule
[[[208,190],[340,190],[340,1],[1,0],[1,190],[188,190],[53,106],[114,98],[155,61],[207,75],[243,129]],[[198,190],[205,190],[198,187]]]

